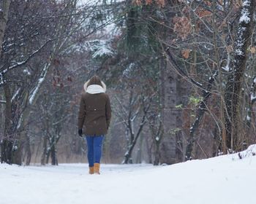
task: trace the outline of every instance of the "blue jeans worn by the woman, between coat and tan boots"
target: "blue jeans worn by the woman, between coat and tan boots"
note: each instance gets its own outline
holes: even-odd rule
[[[104,136],[86,136],[87,141],[87,157],[89,167],[94,166],[94,163],[99,163],[102,157],[102,141]]]

